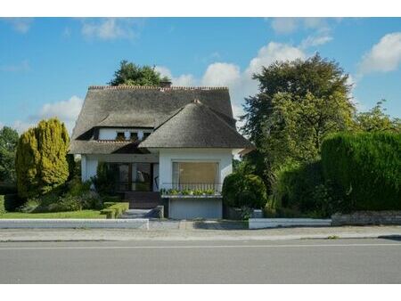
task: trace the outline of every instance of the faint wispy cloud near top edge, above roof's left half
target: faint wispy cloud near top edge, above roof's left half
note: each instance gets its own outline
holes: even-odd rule
[[[81,32],[85,37],[102,40],[133,38],[138,34],[141,21],[135,18],[104,18],[83,20]]]

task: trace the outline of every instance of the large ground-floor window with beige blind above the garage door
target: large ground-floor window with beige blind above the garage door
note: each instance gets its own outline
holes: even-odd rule
[[[218,185],[217,162],[173,162],[173,188],[216,190]]]

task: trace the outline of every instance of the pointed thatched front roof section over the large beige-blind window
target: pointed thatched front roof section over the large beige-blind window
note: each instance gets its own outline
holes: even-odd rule
[[[254,146],[235,127],[226,123],[207,105],[196,100],[178,110],[156,128],[140,148],[230,148]]]

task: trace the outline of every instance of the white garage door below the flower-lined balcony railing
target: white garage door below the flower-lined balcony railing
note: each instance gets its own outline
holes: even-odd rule
[[[222,218],[221,199],[170,199],[169,217],[176,219]]]

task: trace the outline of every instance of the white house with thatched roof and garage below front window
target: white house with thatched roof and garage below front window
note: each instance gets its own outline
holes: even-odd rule
[[[233,155],[251,149],[236,130],[227,88],[170,83],[90,86],[70,143],[83,181],[105,162],[131,207],[165,204],[171,218],[222,217]]]

